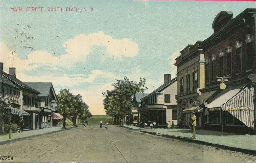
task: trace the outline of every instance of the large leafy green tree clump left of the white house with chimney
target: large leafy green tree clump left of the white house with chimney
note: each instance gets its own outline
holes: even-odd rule
[[[143,93],[146,79],[140,78],[140,82],[130,81],[127,77],[124,80],[117,80],[117,83],[112,84],[114,90],[103,92],[105,99],[103,100],[106,113],[116,119],[122,119],[124,124],[125,116],[131,115],[132,97],[135,93]],[[129,118],[130,119],[130,118]]]

